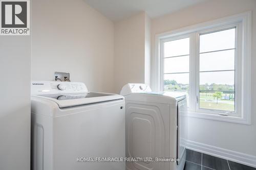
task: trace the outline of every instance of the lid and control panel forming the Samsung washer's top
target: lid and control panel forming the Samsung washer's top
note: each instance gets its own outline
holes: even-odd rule
[[[123,99],[118,94],[89,92],[80,82],[32,81],[31,94],[35,98],[53,101],[59,108]]]

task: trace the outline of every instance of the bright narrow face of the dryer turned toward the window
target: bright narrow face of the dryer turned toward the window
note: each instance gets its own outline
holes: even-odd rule
[[[177,106],[177,164],[179,165],[186,149],[187,140],[187,101],[186,99],[178,102]]]

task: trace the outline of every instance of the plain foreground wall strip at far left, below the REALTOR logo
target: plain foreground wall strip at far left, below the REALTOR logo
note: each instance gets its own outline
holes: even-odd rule
[[[0,36],[0,169],[30,169],[30,36]]]

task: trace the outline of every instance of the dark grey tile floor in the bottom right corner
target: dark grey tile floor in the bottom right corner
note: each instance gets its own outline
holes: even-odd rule
[[[186,154],[184,170],[256,170],[254,167],[188,149]]]

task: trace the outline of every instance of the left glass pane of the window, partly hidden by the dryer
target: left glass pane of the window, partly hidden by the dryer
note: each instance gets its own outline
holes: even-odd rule
[[[189,37],[164,42],[164,91],[184,92],[189,101]]]

